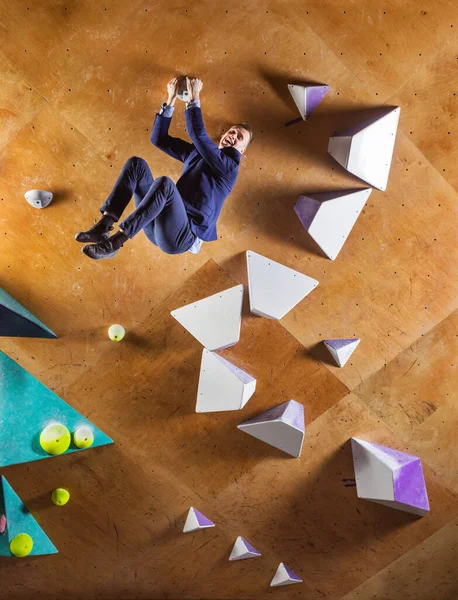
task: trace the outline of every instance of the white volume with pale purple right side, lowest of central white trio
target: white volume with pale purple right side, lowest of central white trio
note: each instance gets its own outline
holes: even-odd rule
[[[240,410],[256,389],[256,379],[204,348],[196,412]]]

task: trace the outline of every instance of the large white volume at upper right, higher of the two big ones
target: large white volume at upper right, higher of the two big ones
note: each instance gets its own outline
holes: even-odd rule
[[[329,139],[328,152],[347,171],[386,190],[398,128],[399,106]]]

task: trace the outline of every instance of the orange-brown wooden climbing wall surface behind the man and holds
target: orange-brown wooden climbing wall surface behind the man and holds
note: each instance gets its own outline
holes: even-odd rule
[[[457,30],[452,0],[0,0],[0,287],[59,335],[0,349],[115,440],[2,470],[59,549],[1,559],[2,600],[456,600]],[[242,120],[255,132],[220,239],[166,256],[139,234],[91,262],[74,234],[129,156],[179,176],[149,143],[175,74],[203,79],[212,136]],[[286,84],[302,81],[331,89],[285,127]],[[331,262],[293,205],[363,187],[327,142],[381,105],[401,106],[388,189]],[[182,106],[172,128],[185,136]],[[55,193],[45,210],[24,200],[33,188]],[[244,307],[222,355],[257,392],[242,413],[197,415],[201,348],[169,312],[246,283],[248,249],[320,285],[281,323]],[[353,335],[344,369],[322,360],[322,339]],[[298,460],[236,429],[290,398],[307,423]],[[353,435],[422,458],[430,515],[344,487]],[[183,535],[191,505],[217,527]],[[238,535],[263,556],[229,563]],[[280,561],[304,583],[269,588]]]

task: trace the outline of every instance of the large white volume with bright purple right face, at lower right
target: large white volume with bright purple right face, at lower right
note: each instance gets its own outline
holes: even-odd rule
[[[351,449],[359,498],[420,516],[429,511],[420,458],[358,438]]]

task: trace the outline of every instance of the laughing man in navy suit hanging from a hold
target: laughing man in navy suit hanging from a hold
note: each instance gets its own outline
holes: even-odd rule
[[[200,79],[186,78],[189,94],[186,129],[190,144],[168,134],[178,94],[175,77],[168,85],[168,100],[156,115],[151,142],[169,156],[184,163],[180,179],[153,179],[141,158],[126,162],[113,191],[101,207],[102,218],[87,231],[76,235],[78,242],[93,242],[83,247],[90,258],[112,258],[118,250],[143,229],[148,239],[167,254],[197,253],[203,241],[217,239],[216,222],[223,203],[237,180],[242,154],[251,141],[249,125],[233,125],[216,145],[207,135],[200,109]],[[110,236],[132,195],[136,209]]]

